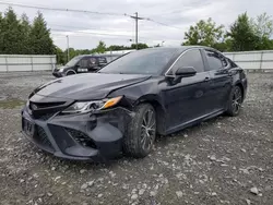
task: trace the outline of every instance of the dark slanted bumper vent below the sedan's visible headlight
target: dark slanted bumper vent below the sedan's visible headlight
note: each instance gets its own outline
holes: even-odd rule
[[[72,136],[79,144],[86,147],[97,148],[94,141],[81,131],[73,129],[66,129],[67,132]]]

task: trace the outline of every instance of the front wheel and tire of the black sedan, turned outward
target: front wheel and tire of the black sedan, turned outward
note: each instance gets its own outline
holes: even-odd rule
[[[156,112],[152,105],[141,104],[135,107],[135,116],[127,124],[123,152],[134,158],[147,156],[156,136]]]

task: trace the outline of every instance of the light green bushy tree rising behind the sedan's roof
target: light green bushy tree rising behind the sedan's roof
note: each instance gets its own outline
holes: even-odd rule
[[[224,26],[216,26],[211,17],[206,22],[201,20],[194,26],[190,26],[190,29],[185,33],[185,39],[183,45],[214,47],[224,41]]]

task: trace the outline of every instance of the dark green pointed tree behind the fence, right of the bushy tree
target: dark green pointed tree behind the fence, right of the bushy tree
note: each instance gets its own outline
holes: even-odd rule
[[[234,51],[256,50],[259,44],[259,36],[256,34],[254,25],[247,13],[239,15],[232,24],[228,36]]]

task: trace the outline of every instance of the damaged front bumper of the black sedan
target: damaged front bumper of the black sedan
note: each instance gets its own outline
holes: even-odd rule
[[[127,109],[115,108],[97,113],[57,113],[35,119],[25,107],[22,110],[22,133],[40,149],[57,157],[72,160],[108,159],[120,155],[126,123],[131,120],[131,114]],[[25,131],[27,122],[34,128],[31,135]]]

